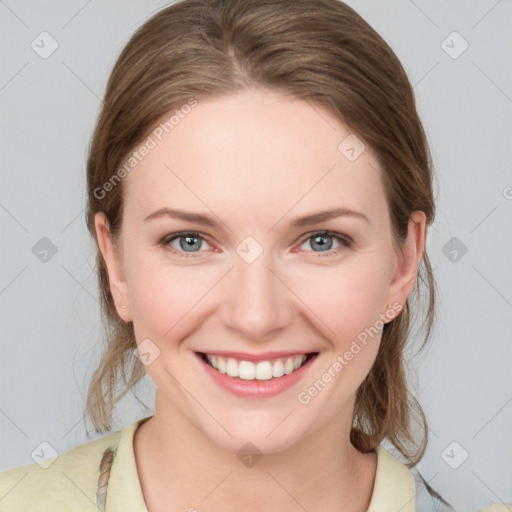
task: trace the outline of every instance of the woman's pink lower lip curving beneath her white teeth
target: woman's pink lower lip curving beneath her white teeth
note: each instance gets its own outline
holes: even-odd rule
[[[226,391],[241,398],[270,398],[285,392],[304,377],[311,363],[317,357],[314,355],[298,370],[294,370],[292,373],[283,375],[282,377],[272,378],[270,380],[245,380],[220,373],[215,368],[205,363],[201,355],[197,352],[196,356],[206,370],[206,373],[214,382]]]

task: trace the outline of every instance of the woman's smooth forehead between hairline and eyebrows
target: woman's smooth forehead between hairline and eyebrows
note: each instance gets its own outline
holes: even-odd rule
[[[151,149],[127,176],[125,204],[141,215],[178,203],[205,211],[208,202],[248,214],[319,203],[367,215],[386,207],[370,148],[318,104],[250,89],[198,99],[172,124],[171,116],[161,118],[145,141]]]

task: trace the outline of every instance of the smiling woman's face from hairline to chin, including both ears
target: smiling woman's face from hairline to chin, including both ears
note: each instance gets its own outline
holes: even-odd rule
[[[157,414],[234,451],[348,434],[383,324],[414,285],[424,215],[395,251],[375,156],[322,107],[247,90],[184,112],[123,178],[119,258],[96,219]]]

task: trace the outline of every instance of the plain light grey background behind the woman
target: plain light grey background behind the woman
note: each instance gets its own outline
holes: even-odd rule
[[[437,172],[438,323],[414,359],[431,427],[418,469],[458,511],[512,502],[512,3],[348,3],[408,72]],[[97,437],[81,419],[102,334],[85,159],[116,56],[164,6],[0,0],[0,470],[33,463],[42,441],[63,453]],[[31,47],[44,31],[58,43],[48,58]],[[32,250],[43,237],[57,249],[46,262]],[[149,408],[130,395],[114,430],[153,412],[152,381],[138,389]]]

